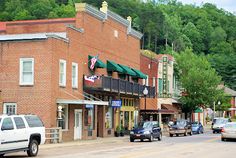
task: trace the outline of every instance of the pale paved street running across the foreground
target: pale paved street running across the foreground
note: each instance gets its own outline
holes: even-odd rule
[[[95,141],[43,145],[38,158],[222,158],[235,157],[236,141],[222,142],[220,134],[163,137],[162,141],[129,142],[129,137],[101,138]],[[18,152],[8,158],[26,157]]]

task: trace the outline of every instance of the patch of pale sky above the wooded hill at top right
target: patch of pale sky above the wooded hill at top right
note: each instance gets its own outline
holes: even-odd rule
[[[236,0],[178,0],[183,4],[195,4],[200,6],[203,3],[212,3],[217,6],[217,8],[223,8],[231,13],[236,13]]]

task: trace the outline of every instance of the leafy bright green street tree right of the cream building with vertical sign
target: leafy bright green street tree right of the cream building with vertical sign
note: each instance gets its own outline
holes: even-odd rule
[[[199,106],[211,105],[223,95],[217,89],[221,78],[203,55],[196,55],[191,49],[175,54],[176,69],[184,94],[181,97],[182,110],[191,113]]]

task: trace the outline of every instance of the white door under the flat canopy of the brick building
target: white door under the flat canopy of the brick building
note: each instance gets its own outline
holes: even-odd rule
[[[82,110],[75,110],[74,140],[82,137]]]

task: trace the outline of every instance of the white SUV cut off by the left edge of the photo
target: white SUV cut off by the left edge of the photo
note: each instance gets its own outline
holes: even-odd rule
[[[0,157],[27,151],[37,156],[38,145],[45,143],[45,127],[36,115],[0,115]]]

